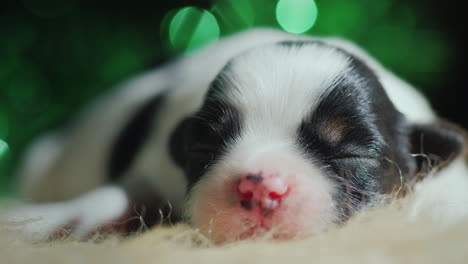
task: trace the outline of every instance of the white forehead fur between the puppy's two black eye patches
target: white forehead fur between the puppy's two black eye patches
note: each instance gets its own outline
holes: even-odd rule
[[[245,138],[270,133],[293,138],[304,117],[348,68],[348,58],[332,48],[256,48],[232,62],[223,76],[229,89],[222,99],[241,111]]]

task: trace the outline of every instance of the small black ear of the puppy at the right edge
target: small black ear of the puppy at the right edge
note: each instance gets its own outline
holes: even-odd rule
[[[466,132],[446,121],[413,125],[410,130],[411,153],[419,171],[441,168],[458,157],[465,148]]]

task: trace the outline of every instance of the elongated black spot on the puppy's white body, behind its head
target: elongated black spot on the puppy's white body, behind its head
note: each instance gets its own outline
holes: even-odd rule
[[[108,160],[109,179],[118,180],[130,168],[145,141],[156,129],[154,118],[163,101],[164,94],[148,100],[120,131]]]

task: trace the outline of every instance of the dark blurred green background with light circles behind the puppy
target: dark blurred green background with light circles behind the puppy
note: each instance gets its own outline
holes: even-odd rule
[[[34,136],[129,76],[255,26],[354,40],[464,117],[462,9],[455,1],[22,0],[0,5],[0,194]],[[462,31],[463,30],[463,31]],[[458,94],[457,94],[458,93]]]

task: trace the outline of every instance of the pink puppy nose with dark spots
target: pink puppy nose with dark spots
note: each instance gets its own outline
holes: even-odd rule
[[[243,176],[237,186],[240,204],[246,210],[254,207],[276,209],[289,192],[288,185],[279,177],[259,174]]]

